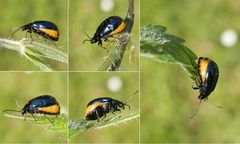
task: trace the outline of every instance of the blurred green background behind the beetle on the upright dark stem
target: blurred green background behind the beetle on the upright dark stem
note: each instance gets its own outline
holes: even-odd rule
[[[112,10],[103,11],[100,5],[103,1],[109,0],[72,0],[70,2],[70,70],[73,71],[96,71],[103,62],[104,57],[111,51],[102,49],[97,44],[90,44],[83,40],[88,39],[86,32],[91,37],[98,26],[109,16],[117,15],[125,18],[128,8],[128,0],[110,0],[113,2]],[[108,6],[105,4],[104,6]],[[103,7],[104,7],[103,6]],[[122,71],[139,70],[139,0],[135,1],[135,19],[132,29],[131,44],[135,46],[132,54],[132,61],[129,62],[131,44],[127,46],[124,58],[120,67]],[[109,43],[103,42],[103,46]]]

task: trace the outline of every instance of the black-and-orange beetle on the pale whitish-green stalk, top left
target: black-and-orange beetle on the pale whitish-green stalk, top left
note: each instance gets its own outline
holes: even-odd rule
[[[11,34],[10,38],[20,29],[22,29],[22,31],[26,30],[27,33],[30,33],[31,38],[32,38],[31,33],[33,32],[35,34],[41,35],[45,39],[49,39],[52,41],[58,41],[59,39],[58,27],[50,21],[34,21],[32,23],[23,25],[17,30],[15,30]]]

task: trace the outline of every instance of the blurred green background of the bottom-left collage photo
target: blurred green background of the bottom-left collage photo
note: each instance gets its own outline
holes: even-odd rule
[[[47,125],[35,125],[28,120],[8,118],[3,110],[20,110],[32,98],[39,95],[54,96],[61,106],[61,113],[67,113],[67,74],[42,72],[1,72],[0,74],[0,142],[1,143],[62,143],[63,133],[48,129]],[[21,108],[17,107],[17,99]]]

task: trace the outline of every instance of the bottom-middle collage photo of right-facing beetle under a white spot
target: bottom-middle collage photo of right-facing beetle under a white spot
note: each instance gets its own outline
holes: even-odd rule
[[[70,143],[139,143],[139,73],[70,72]]]

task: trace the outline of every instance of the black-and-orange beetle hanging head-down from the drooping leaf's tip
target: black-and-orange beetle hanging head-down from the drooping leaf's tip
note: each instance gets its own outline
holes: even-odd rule
[[[202,102],[202,100],[206,100],[208,96],[214,91],[218,77],[219,70],[217,64],[206,57],[200,57],[198,59],[198,74],[197,76],[200,79],[200,85],[197,87],[193,87],[194,89],[199,89],[200,95],[198,99],[200,100],[197,110],[191,118],[198,112],[198,108]]]

